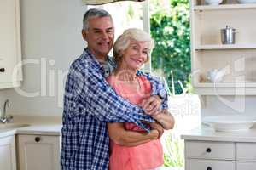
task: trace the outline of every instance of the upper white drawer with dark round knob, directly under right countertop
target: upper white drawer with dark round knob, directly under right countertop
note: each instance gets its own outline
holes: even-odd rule
[[[235,160],[235,143],[185,141],[187,158]]]

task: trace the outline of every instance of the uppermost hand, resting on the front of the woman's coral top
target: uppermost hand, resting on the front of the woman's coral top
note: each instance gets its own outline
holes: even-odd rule
[[[148,115],[156,115],[160,112],[161,99],[159,96],[154,95],[148,99],[144,99],[141,107]]]

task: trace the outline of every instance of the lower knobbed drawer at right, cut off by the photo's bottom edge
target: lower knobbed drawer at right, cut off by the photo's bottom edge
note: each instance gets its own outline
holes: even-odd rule
[[[235,161],[186,160],[186,170],[235,170]]]

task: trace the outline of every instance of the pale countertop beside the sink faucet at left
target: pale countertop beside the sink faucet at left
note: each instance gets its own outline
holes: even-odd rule
[[[25,121],[26,120],[26,121]],[[48,120],[48,121],[46,121]],[[54,121],[53,121],[54,120]],[[23,119],[23,117],[18,117],[15,119],[17,124],[27,124],[27,127],[0,129],[0,138],[14,135],[14,134],[37,134],[37,135],[61,135],[61,121],[60,119],[53,119],[48,116],[47,118],[42,118],[41,116],[32,116],[30,118]]]

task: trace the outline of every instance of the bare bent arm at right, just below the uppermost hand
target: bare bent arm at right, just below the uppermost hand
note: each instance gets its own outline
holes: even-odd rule
[[[166,130],[172,129],[174,127],[174,123],[175,123],[174,117],[167,110],[163,110],[159,114],[153,115],[152,117],[157,122],[159,122]]]

